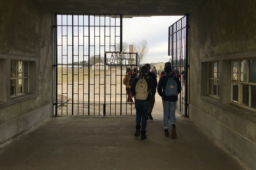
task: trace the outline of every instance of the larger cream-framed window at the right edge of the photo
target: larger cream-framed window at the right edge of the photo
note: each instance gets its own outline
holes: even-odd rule
[[[231,102],[256,109],[256,59],[232,60]]]

